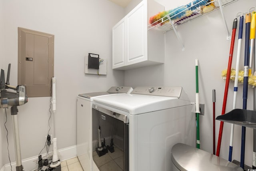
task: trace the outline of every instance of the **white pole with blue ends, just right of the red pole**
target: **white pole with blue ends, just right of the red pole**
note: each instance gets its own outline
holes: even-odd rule
[[[240,62],[240,53],[241,53],[241,45],[242,45],[242,36],[243,36],[243,25],[244,25],[244,16],[240,16],[239,22],[239,33],[238,33],[238,48],[237,48],[237,56],[236,56],[236,75],[235,75],[235,83],[234,83],[234,98],[233,98],[233,109],[236,109],[236,94],[238,90],[238,73],[239,73],[239,62]],[[230,146],[229,146],[229,155],[228,161],[232,161],[232,151],[233,151],[233,135],[234,135],[234,124],[231,124],[231,132],[230,132]]]

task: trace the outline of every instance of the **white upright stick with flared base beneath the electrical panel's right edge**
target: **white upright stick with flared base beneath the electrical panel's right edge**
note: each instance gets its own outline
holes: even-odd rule
[[[57,154],[57,138],[55,137],[55,112],[56,112],[56,78],[52,78],[52,111],[53,111],[53,123],[54,123],[54,139],[53,142],[53,155],[52,155],[52,163],[50,167],[57,167],[60,165],[60,161]]]

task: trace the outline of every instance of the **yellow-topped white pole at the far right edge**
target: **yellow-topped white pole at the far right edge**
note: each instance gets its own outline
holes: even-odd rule
[[[250,30],[250,59],[254,60],[254,76],[256,72],[255,63],[255,28],[256,28],[256,12],[252,12],[251,30]],[[252,60],[250,60],[252,63]],[[256,87],[253,88],[253,109],[256,110]],[[256,129],[253,129],[253,162],[252,169],[256,169]]]

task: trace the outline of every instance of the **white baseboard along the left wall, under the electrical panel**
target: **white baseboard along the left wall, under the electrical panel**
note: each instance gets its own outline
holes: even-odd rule
[[[42,154],[42,157],[44,157],[46,154]],[[60,161],[67,160],[73,157],[76,157],[76,145],[67,147],[64,149],[58,150],[58,157]],[[36,164],[36,161],[38,160],[38,156],[30,157],[28,159],[22,160],[22,166],[24,167],[25,171],[31,171],[38,167],[38,164]],[[11,163],[12,170],[16,170],[16,162]],[[2,167],[0,171],[11,171],[10,164],[6,164]]]

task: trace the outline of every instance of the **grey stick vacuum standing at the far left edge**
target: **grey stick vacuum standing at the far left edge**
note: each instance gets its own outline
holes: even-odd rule
[[[15,144],[15,154],[16,154],[16,171],[23,171],[23,166],[21,163],[21,153],[20,153],[20,137],[18,128],[18,108],[19,105],[24,105],[28,102],[28,97],[26,94],[26,87],[23,85],[18,85],[17,87],[10,86],[10,67],[8,65],[8,73],[6,83],[4,78],[4,70],[1,70],[0,74],[0,108],[11,107],[12,123],[13,123],[13,133],[14,133],[14,144]],[[16,90],[16,92],[10,92],[6,89],[11,88]]]

